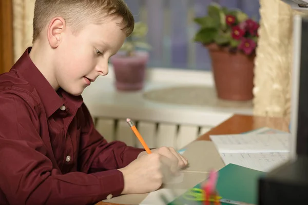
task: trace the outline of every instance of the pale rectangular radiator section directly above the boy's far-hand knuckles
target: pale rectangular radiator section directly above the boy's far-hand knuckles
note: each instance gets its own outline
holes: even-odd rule
[[[176,125],[159,124],[157,130],[157,146],[174,147],[175,149],[177,149],[176,135]]]

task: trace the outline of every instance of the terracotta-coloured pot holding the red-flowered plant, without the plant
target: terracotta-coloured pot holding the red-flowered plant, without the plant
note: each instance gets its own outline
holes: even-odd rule
[[[211,57],[218,98],[225,100],[251,100],[254,88],[255,54],[230,53],[216,44],[205,46]]]

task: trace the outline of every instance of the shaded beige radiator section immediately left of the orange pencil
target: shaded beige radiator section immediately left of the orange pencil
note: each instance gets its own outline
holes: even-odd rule
[[[136,137],[127,125],[126,120],[119,120],[115,131],[115,139],[125,142],[128,146],[136,146]]]

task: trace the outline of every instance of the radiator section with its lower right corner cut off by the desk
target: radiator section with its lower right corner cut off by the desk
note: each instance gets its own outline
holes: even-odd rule
[[[177,137],[177,149],[181,149],[199,136],[199,127],[197,126],[180,126]]]

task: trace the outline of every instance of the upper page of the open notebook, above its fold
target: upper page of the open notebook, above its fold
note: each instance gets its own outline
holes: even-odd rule
[[[210,135],[219,153],[288,152],[289,133]]]

